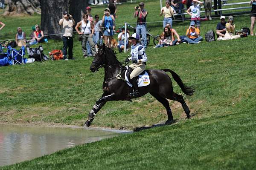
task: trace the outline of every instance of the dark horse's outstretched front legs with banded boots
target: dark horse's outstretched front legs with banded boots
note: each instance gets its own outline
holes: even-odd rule
[[[93,108],[90,110],[90,113],[88,115],[87,121],[84,123],[84,127],[89,127],[92,123],[95,115],[99,110],[107,103],[107,101],[111,101],[113,98],[114,93],[111,95],[103,96],[102,98],[99,98],[99,100],[96,101],[96,103],[93,105]]]

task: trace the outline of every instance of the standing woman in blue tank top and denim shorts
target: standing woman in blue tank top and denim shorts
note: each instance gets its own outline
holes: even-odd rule
[[[104,40],[107,47],[111,48],[111,40],[113,37],[113,21],[115,18],[110,14],[110,9],[106,8],[104,10],[104,15],[102,17],[102,23],[104,23]]]

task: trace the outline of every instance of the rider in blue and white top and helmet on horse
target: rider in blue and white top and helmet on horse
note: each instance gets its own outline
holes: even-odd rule
[[[146,61],[148,61],[148,58],[145,53],[145,49],[143,48],[142,45],[140,45],[140,35],[134,33],[133,35],[131,35],[131,37],[129,37],[129,39],[132,41],[132,46],[131,57],[128,58],[128,61],[131,60],[132,62],[130,67],[133,69],[133,71],[130,74],[130,80],[134,89],[134,92],[130,93],[130,95],[132,97],[138,97],[140,93],[138,92],[138,84],[136,81],[136,77],[145,70],[145,65]]]

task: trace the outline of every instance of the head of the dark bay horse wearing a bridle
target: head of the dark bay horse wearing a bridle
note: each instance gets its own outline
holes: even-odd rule
[[[98,46],[98,52],[96,52],[94,60],[91,64],[91,66],[90,66],[90,70],[92,72],[98,71],[98,69],[100,67],[102,67],[105,64],[105,61],[106,61],[106,52],[105,52],[106,46],[105,46],[105,43],[103,43],[102,46],[99,46],[97,44],[97,46]]]

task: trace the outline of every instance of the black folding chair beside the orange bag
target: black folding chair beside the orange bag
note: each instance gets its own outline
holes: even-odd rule
[[[34,58],[35,61],[45,61],[47,60],[47,58],[44,58],[44,54],[43,54],[43,47],[42,46],[38,46],[37,48],[30,48],[28,45],[26,46],[29,58]]]

